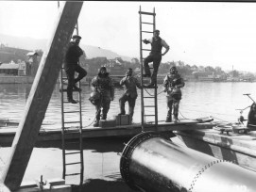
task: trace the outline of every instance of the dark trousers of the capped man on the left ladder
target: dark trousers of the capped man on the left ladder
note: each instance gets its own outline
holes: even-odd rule
[[[65,72],[68,78],[67,97],[70,100],[73,99],[73,88],[75,87],[76,83],[85,77],[87,72],[79,65],[71,65],[65,69]],[[75,72],[78,73],[76,79]]]

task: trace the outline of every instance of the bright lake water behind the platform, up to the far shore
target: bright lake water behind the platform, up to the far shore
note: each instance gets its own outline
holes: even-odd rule
[[[32,85],[27,84],[1,84],[0,85],[0,119],[21,120],[24,115],[26,99]],[[60,86],[52,94],[48,105],[44,124],[56,125],[61,124],[61,104],[60,104]],[[153,89],[149,89],[149,92]],[[124,92],[122,88],[115,88],[115,98],[111,102],[111,109],[108,119],[113,119],[119,113],[118,99]],[[162,85],[158,88],[158,111],[159,120],[165,120],[167,107],[165,93],[162,92]],[[87,126],[94,121],[94,105],[88,100],[91,93],[89,86],[82,86],[82,122]],[[138,89],[139,96],[135,107],[134,122],[141,121],[141,91]],[[153,93],[153,92],[152,92]],[[214,120],[237,120],[239,111],[236,109],[246,108],[252,101],[245,95],[250,93],[253,99],[256,99],[256,83],[248,82],[186,82],[182,88],[182,100],[179,105],[180,119],[196,119],[201,117],[213,116]],[[74,93],[74,98],[76,98]],[[66,93],[64,93],[66,97]],[[76,110],[77,104],[67,104],[70,110]],[[128,104],[126,104],[128,112]],[[247,117],[248,109],[243,113]],[[67,119],[75,120],[77,117],[68,116]],[[148,119],[149,120],[149,119]],[[153,120],[153,119],[152,119]],[[147,121],[147,120],[146,120]],[[150,121],[150,120],[149,120]],[[56,127],[55,126],[55,127]],[[46,128],[50,128],[47,126]]]

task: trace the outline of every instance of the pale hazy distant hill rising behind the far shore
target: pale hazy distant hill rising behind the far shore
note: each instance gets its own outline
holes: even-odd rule
[[[0,43],[3,43],[9,47],[15,47],[20,49],[26,50],[38,50],[38,49],[45,49],[47,45],[47,40],[38,40],[32,38],[21,38],[21,37],[12,37],[8,35],[0,34]],[[123,60],[131,61],[131,57],[128,56],[119,56],[118,54],[106,50],[101,49],[96,46],[91,45],[84,45],[80,44],[81,48],[85,51],[86,56],[88,58],[93,58],[97,56],[106,56],[108,59],[115,58],[115,57],[122,57]]]

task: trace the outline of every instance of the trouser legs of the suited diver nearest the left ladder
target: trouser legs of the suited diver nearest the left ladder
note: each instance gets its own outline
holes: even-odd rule
[[[101,107],[102,107],[102,117],[101,117],[101,120],[106,120],[107,119],[107,114],[108,114],[108,112],[110,110],[110,107],[111,107],[111,99],[109,97],[101,95],[100,103],[95,105],[96,120],[100,120]]]

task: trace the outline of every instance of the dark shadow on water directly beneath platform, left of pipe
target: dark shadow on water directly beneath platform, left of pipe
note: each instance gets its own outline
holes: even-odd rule
[[[122,152],[130,138],[128,136],[84,138],[83,150],[93,150],[93,152]],[[61,141],[38,142],[36,147],[62,149],[62,144]],[[77,140],[73,139],[68,141],[65,149],[77,150],[78,148]]]

